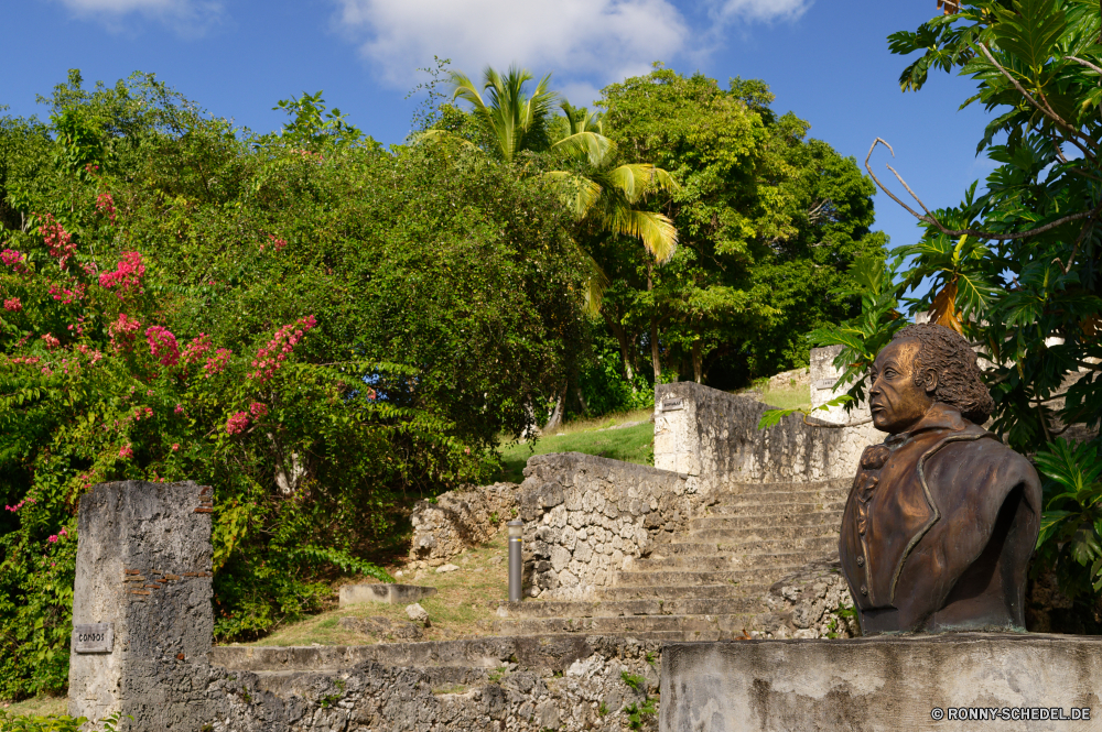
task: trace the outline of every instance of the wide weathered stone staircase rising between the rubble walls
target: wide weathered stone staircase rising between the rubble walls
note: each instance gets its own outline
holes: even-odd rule
[[[714,641],[755,630],[769,587],[838,555],[849,479],[735,483],[689,531],[616,573],[591,602],[501,603],[499,635],[581,633]]]

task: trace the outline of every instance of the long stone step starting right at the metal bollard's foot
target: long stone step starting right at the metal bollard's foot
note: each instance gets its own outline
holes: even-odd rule
[[[687,588],[685,591],[691,591]],[[765,612],[758,598],[641,598],[608,602],[503,602],[498,618],[623,618],[626,615],[737,615]]]

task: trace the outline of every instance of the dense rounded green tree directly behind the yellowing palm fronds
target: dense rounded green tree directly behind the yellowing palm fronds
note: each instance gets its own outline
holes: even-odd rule
[[[680,234],[665,267],[597,231],[586,244],[612,280],[604,315],[627,370],[645,345],[656,380],[665,360],[696,381],[719,364],[714,383],[738,385],[807,363],[803,334],[851,315],[830,293],[884,242],[872,184],[771,101],[760,81],[724,90],[661,66],[603,90],[611,136],[679,184],[655,206]]]

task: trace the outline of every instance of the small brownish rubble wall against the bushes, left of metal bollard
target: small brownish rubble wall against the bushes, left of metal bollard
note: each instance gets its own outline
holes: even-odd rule
[[[449,491],[413,506],[411,567],[439,567],[465,548],[488,542],[518,509],[516,483]]]

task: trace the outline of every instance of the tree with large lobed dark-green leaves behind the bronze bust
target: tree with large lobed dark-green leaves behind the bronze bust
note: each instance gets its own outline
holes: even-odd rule
[[[929,312],[976,345],[992,363],[990,428],[1015,449],[1036,451],[1047,478],[1036,568],[1055,568],[1098,629],[1102,18],[1094,0],[980,0],[955,9],[889,37],[893,52],[920,54],[900,88],[921,89],[931,69],[970,76],[976,94],[964,105],[997,112],[976,148],[997,166],[984,189],[974,183],[959,206],[941,210],[917,195],[916,210],[882,185],[917,217],[922,239],[897,250],[895,267],[876,277],[883,295],[865,298],[861,327],[815,337],[845,346],[836,363],[861,364],[846,374],[854,394],[898,319],[892,303]],[[1083,447],[1072,449],[1061,435]]]

